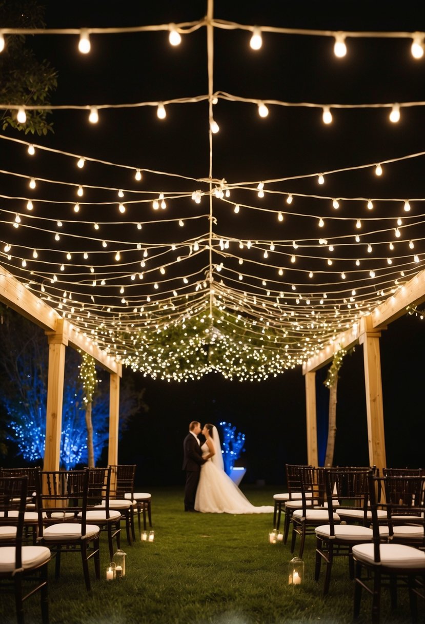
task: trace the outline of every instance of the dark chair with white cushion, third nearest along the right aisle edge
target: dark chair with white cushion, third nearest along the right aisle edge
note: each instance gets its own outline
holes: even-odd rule
[[[302,558],[305,537],[307,535],[314,535],[315,528],[327,522],[329,514],[328,504],[325,500],[325,468],[302,468],[300,469],[300,480],[302,507],[300,509],[295,509],[292,513],[291,552],[294,552],[297,535],[300,535],[299,557]],[[307,495],[310,495],[310,498],[308,498]],[[334,507],[337,506],[337,503],[337,500],[333,500],[332,510],[330,512],[333,514],[333,522],[335,524],[340,521],[339,515],[334,511]]]

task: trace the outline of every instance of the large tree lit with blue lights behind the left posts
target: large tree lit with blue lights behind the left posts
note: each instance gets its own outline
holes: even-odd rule
[[[6,442],[16,442],[19,454],[27,462],[39,462],[44,457],[45,444],[47,339],[41,329],[6,308],[0,308],[0,321],[0,401],[7,415],[3,426]],[[67,349],[60,444],[60,464],[66,469],[88,462],[85,392],[79,375],[81,360],[77,351]],[[94,462],[107,443],[109,418],[109,376],[99,370],[97,379],[92,397]],[[136,391],[129,379],[121,384],[121,429],[140,409],[147,411],[143,392],[143,389]]]

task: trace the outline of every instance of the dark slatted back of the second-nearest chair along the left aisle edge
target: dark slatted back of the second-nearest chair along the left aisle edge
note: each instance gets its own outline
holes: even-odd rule
[[[39,537],[43,535],[45,524],[61,521],[80,522],[84,535],[87,493],[88,470],[42,470],[37,492]]]

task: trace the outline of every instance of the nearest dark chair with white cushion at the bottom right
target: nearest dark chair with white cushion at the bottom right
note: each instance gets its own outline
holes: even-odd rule
[[[394,544],[394,542],[383,543],[380,532],[380,525],[386,523],[391,530],[394,515],[413,515],[416,522],[421,522],[424,532],[424,500],[423,494],[418,497],[401,498],[396,502],[388,500],[378,502],[376,491],[385,487],[384,480],[388,477],[374,477],[370,472],[369,495],[372,515],[373,538],[370,544],[358,544],[353,546],[352,553],[355,560],[355,593],[354,593],[354,618],[360,615],[361,593],[365,589],[372,596],[372,621],[374,624],[380,622],[380,600],[381,588],[389,587],[391,607],[396,607],[397,587],[407,587],[409,592],[409,603],[411,617],[414,622],[418,618],[417,596],[425,598],[423,594],[423,580],[425,578],[425,552],[404,544]],[[410,477],[419,479],[419,487],[423,488],[422,477]],[[418,490],[419,491],[419,490]],[[423,489],[420,490],[423,492]],[[386,495],[388,494],[386,490]],[[378,509],[384,510],[386,518],[379,517],[376,513]],[[423,544],[425,542],[423,541]],[[365,572],[366,574],[363,574]],[[418,582],[422,579],[422,585]]]

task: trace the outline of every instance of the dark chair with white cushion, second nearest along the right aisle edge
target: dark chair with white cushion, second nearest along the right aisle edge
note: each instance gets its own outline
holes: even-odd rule
[[[363,515],[368,510],[368,468],[327,468],[325,469],[326,499],[328,508],[328,524],[315,528],[316,565],[315,581],[319,580],[322,559],[326,563],[323,595],[329,591],[333,557],[348,557],[350,578],[354,578],[354,565],[351,549],[355,544],[371,542],[372,529],[363,525],[340,524],[335,522],[335,499],[338,501],[337,515],[342,517],[344,511],[360,510]]]

